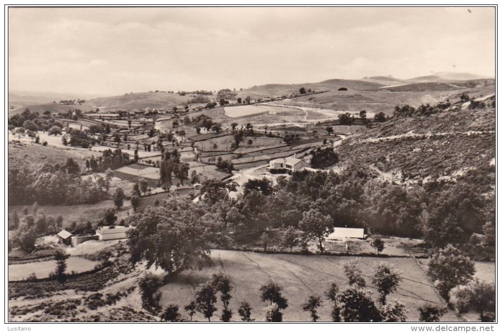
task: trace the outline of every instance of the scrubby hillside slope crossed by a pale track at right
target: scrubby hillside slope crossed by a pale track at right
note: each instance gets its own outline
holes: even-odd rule
[[[358,165],[402,183],[494,176],[495,110],[391,120],[337,147],[340,166]]]

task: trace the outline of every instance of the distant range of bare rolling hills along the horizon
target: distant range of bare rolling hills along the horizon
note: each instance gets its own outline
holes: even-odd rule
[[[224,88],[224,87],[223,87]],[[266,84],[253,88],[236,91],[238,97],[244,99],[267,98],[290,96],[298,94],[300,88],[311,91],[326,91],[324,94],[315,97],[299,97],[295,100],[311,104],[312,107],[327,107],[336,110],[351,110],[353,108],[387,111],[390,106],[382,105],[376,107],[375,103],[382,104],[386,101],[390,105],[399,103],[409,103],[411,105],[422,103],[423,98],[418,92],[435,92],[433,100],[442,100],[452,93],[464,92],[469,89],[477,89],[476,93],[494,90],[494,79],[469,73],[441,72],[429,76],[422,76],[411,79],[400,79],[393,76],[372,76],[364,77],[360,80],[330,79],[317,83],[303,84]],[[346,88],[340,90],[340,88]],[[405,95],[375,96],[379,92],[396,92]],[[411,93],[411,94],[410,94]],[[437,95],[437,96],[436,96]],[[429,97],[431,97],[429,96]],[[216,99],[216,96],[207,96],[209,100]],[[79,108],[88,111],[95,108],[100,110],[133,110],[150,108],[173,108],[184,105],[191,97],[178,94],[167,93],[131,93],[119,96],[96,97],[86,94],[56,94],[56,93],[29,93],[10,92],[9,93],[9,114],[23,112],[29,107],[32,111],[61,112],[69,108]],[[86,103],[74,107],[60,106],[52,103],[60,100],[84,99]],[[304,101],[305,100],[305,101]]]

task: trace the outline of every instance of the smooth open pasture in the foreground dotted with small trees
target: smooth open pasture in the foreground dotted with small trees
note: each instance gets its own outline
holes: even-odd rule
[[[239,252],[213,250],[211,253],[213,266],[202,270],[186,270],[180,273],[172,282],[161,288],[162,305],[169,303],[186,305],[194,297],[194,290],[208,280],[211,273],[224,271],[234,280],[233,298],[230,308],[234,313],[234,320],[239,320],[237,307],[239,302],[248,301],[253,307],[252,317],[257,321],[265,318],[266,303],[260,299],[260,286],[269,280],[274,280],[284,287],[283,295],[288,299],[288,308],[284,310],[285,321],[310,321],[309,314],[303,311],[301,304],[310,295],[319,295],[323,304],[319,308],[320,320],[330,321],[332,304],[324,297],[324,292],[331,282],[336,282],[340,289],[347,286],[347,278],[343,273],[342,261],[353,257],[342,256],[313,256],[290,254],[263,254],[254,252]],[[399,268],[403,274],[403,281],[394,293],[387,299],[389,302],[399,300],[409,310],[408,320],[418,321],[418,307],[423,304],[444,305],[437,295],[433,285],[428,281],[425,272],[413,258],[375,258],[363,257],[359,259],[359,267],[363,271],[368,288],[373,291],[376,299],[376,289],[371,285],[371,276],[375,266],[385,261]],[[253,276],[253,278],[249,278]],[[183,300],[180,302],[180,300]],[[218,311],[211,321],[217,321],[222,308],[218,299]],[[195,320],[206,321],[200,313]],[[458,321],[451,311],[443,320]]]

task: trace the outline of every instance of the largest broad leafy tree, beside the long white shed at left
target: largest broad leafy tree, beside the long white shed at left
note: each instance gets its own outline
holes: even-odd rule
[[[204,213],[189,199],[171,198],[135,214],[131,222],[136,228],[128,231],[132,263],[146,260],[147,267],[176,274],[210,262],[209,244],[222,241],[221,224]]]

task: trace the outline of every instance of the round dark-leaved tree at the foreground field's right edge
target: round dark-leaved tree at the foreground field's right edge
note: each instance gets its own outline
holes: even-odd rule
[[[449,244],[432,255],[427,275],[434,281],[439,294],[450,303],[450,290],[464,285],[474,275],[474,263]]]

